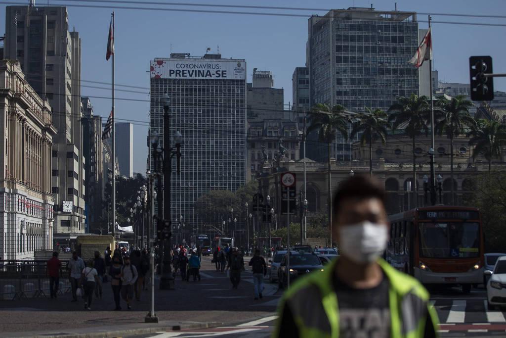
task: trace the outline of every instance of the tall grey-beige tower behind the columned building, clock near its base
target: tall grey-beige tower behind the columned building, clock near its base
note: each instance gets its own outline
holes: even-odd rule
[[[84,233],[79,34],[69,31],[66,7],[7,6],[5,22],[5,58],[19,60],[28,83],[53,108],[54,231]]]

